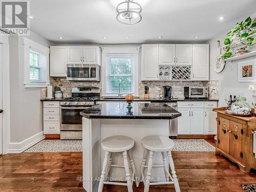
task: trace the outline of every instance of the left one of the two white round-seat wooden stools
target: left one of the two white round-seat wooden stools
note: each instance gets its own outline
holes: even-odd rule
[[[102,165],[102,172],[100,176],[100,182],[98,187],[98,192],[101,192],[103,189],[103,184],[111,185],[124,185],[127,186],[128,191],[133,191],[133,181],[136,177],[136,169],[133,162],[133,157],[131,153],[131,148],[134,146],[134,140],[131,137],[127,136],[111,136],[105,138],[101,142],[102,149],[105,151],[105,158]],[[123,164],[124,165],[114,165],[112,164],[113,153],[122,153],[123,155]],[[130,163],[128,162],[127,155],[129,157]],[[125,169],[126,183],[121,182],[110,182],[105,181],[105,178],[108,177],[111,167],[123,167]],[[132,169],[132,179],[130,176],[130,169]],[[136,184],[138,183],[135,180]]]

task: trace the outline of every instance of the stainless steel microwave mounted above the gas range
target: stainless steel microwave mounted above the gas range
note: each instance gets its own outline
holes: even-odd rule
[[[67,80],[100,81],[100,66],[92,64],[67,64]]]

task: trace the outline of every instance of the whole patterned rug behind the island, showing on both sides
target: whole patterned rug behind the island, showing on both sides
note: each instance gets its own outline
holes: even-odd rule
[[[173,139],[173,151],[215,152],[215,147],[204,139]],[[42,140],[25,152],[81,152],[82,140]]]

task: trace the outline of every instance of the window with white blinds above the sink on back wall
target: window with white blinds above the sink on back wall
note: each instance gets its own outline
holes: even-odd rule
[[[134,94],[133,69],[133,54],[106,55],[106,95],[118,94],[120,82],[121,94]]]

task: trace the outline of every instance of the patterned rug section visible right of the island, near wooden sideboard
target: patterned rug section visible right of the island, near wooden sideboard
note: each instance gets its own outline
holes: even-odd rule
[[[215,152],[215,147],[204,139],[173,139],[176,152]]]

